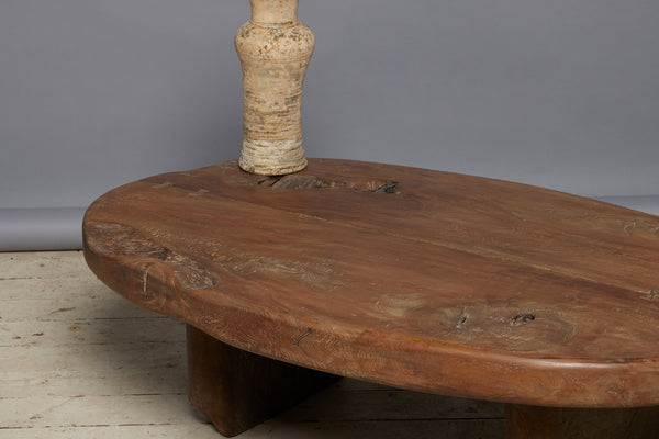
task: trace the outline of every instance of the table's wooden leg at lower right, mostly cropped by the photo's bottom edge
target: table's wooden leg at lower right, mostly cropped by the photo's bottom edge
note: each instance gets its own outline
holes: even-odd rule
[[[507,439],[654,439],[659,406],[640,408],[558,408],[506,404]]]

